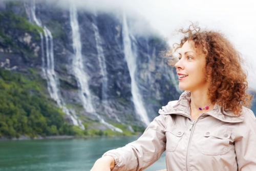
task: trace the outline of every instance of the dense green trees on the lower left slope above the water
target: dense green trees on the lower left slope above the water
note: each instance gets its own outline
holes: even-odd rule
[[[63,119],[63,112],[44,95],[42,80],[0,69],[0,136],[81,135]],[[30,79],[28,79],[30,77]]]

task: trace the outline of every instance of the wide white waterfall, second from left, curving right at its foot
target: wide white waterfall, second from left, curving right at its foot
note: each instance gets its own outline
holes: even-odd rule
[[[73,58],[73,70],[76,76],[76,80],[78,83],[79,91],[80,91],[80,97],[83,102],[83,108],[89,113],[92,113],[97,116],[99,121],[103,123],[104,125],[108,126],[113,131],[118,131],[122,133],[122,130],[113,126],[112,124],[109,124],[105,122],[95,111],[92,101],[92,95],[89,90],[89,76],[86,72],[84,72],[83,67],[83,60],[82,60],[82,46],[81,46],[81,40],[80,40],[80,31],[79,31],[79,25],[77,21],[77,10],[74,5],[71,5],[70,7],[70,24],[72,28],[72,37],[73,37],[73,49],[74,49],[74,58]],[[103,50],[101,48],[101,52],[103,53]],[[100,52],[100,53],[101,53]],[[104,70],[104,69],[102,69]]]

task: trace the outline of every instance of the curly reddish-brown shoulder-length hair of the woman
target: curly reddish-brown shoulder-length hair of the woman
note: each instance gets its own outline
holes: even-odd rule
[[[239,116],[242,106],[250,106],[252,99],[252,96],[246,93],[248,82],[247,74],[241,66],[242,55],[220,32],[201,30],[194,24],[179,31],[184,37],[180,44],[174,44],[173,49],[166,53],[169,57],[168,64],[174,66],[177,61],[174,53],[186,41],[193,42],[194,47],[206,55],[205,71],[210,83],[207,94],[211,103],[217,103]]]

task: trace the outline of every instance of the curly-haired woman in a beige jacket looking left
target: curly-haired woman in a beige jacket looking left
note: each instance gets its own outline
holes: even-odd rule
[[[256,121],[240,53],[224,36],[181,30],[174,52],[178,101],[159,110],[143,135],[106,152],[92,170],[143,170],[166,151],[167,170],[256,170]],[[162,166],[159,166],[162,167]]]

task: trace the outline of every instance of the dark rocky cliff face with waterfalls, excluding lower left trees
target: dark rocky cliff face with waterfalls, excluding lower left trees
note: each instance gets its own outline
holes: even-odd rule
[[[124,14],[0,1],[0,19],[1,67],[38,70],[47,96],[81,128],[91,121],[112,129],[108,122],[148,124],[181,93],[159,55],[166,42],[135,33]]]

